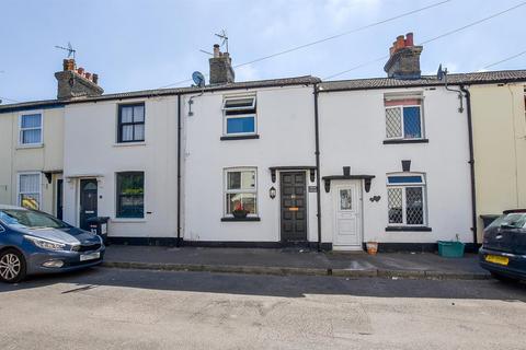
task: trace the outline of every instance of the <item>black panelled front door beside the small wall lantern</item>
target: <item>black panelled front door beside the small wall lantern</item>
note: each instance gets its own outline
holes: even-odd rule
[[[307,241],[305,173],[281,173],[282,242]]]

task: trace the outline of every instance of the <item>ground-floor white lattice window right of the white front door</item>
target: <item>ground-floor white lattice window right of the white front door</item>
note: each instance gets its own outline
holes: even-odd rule
[[[388,220],[392,226],[427,224],[425,176],[422,173],[387,175]]]

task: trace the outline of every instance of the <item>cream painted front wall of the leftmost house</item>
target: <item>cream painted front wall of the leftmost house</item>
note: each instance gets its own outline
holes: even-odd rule
[[[34,112],[43,115],[43,145],[19,145],[19,118]],[[64,108],[0,114],[0,203],[18,205],[18,174],[59,172],[64,160]],[[41,210],[55,214],[54,183],[41,176]]]

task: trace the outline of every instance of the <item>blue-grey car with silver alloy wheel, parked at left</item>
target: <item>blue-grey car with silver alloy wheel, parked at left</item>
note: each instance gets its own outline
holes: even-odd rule
[[[0,281],[95,266],[102,238],[41,211],[0,205]]]

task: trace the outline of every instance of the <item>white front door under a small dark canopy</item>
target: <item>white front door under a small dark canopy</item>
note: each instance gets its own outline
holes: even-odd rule
[[[362,183],[334,186],[334,249],[362,250]]]

